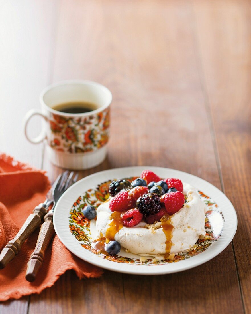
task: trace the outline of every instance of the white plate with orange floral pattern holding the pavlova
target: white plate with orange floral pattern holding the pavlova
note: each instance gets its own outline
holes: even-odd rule
[[[157,261],[154,258],[140,261],[140,256],[123,249],[119,255],[97,254],[91,247],[96,238],[94,219],[86,219],[82,213],[87,204],[98,206],[109,194],[109,184],[114,179],[139,177],[149,169],[161,178],[179,178],[198,189],[207,206],[206,236],[198,240],[189,252],[175,255],[174,260]],[[97,172],[72,185],[61,196],[54,210],[54,227],[60,241],[69,251],[86,262],[109,270],[157,275],[175,273],[201,265],[222,252],[232,241],[237,229],[237,216],[230,200],[211,183],[191,174],[161,167],[136,166]]]

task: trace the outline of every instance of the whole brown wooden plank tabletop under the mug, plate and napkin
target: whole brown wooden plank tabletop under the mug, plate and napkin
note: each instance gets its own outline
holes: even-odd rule
[[[232,243],[204,265],[89,280],[68,271],[1,313],[251,313],[250,21],[245,0],[1,3],[2,151],[54,179],[61,170],[25,140],[21,118],[50,83],[97,81],[113,94],[111,139],[107,159],[81,176],[170,167],[221,189],[238,215]]]

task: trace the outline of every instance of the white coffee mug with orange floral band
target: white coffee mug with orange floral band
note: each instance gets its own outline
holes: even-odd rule
[[[24,117],[24,134],[31,143],[46,140],[50,161],[62,168],[80,170],[99,165],[106,157],[112,94],[105,86],[83,80],[50,85],[40,94],[41,111],[30,110]],[[86,102],[96,109],[65,113],[53,109],[62,103]],[[27,125],[32,116],[43,118],[41,133],[30,138]]]

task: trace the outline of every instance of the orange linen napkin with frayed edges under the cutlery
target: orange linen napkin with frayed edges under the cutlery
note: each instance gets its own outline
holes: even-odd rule
[[[44,202],[49,189],[50,182],[44,171],[0,154],[0,250],[17,234],[34,207]],[[24,242],[18,255],[0,270],[0,301],[40,293],[68,269],[74,269],[80,279],[101,276],[100,268],[72,255],[55,236],[45,252],[36,280],[33,283],[26,281],[27,262],[34,251],[38,233],[39,228]]]

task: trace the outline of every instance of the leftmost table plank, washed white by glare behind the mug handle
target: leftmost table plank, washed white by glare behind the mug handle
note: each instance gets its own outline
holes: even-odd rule
[[[42,145],[24,138],[22,118],[39,108],[39,93],[49,84],[57,1],[3,0],[0,4],[0,150],[40,168]],[[31,121],[37,135],[40,121]],[[29,297],[0,303],[0,313],[23,314]]]

